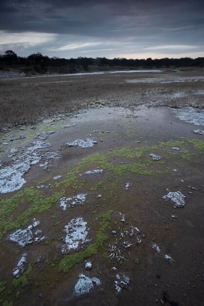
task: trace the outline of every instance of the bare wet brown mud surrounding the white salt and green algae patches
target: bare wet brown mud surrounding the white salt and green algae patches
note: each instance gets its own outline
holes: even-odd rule
[[[80,111],[72,117],[46,120],[36,124],[35,129],[23,126],[23,131],[17,128],[0,135],[1,138],[7,138],[4,142],[9,142],[9,145],[1,145],[1,167],[12,163],[11,157],[8,157],[11,148],[25,147],[25,151],[26,146],[29,147],[30,142],[36,141],[35,137],[41,131],[56,131],[42,141],[51,144],[48,148],[50,152],[61,155],[58,160],[49,160],[45,170],[39,167],[39,164],[46,161],[43,157],[39,163],[32,165],[23,175],[26,183],[20,190],[0,194],[1,205],[6,198],[13,199],[21,190],[30,187],[37,190],[37,186],[43,184],[50,184],[49,188],[39,191],[45,198],[51,198],[62,191],[64,197],[87,193],[84,205],[63,211],[57,199],[49,209],[41,213],[36,211],[29,217],[28,223],[16,228],[24,229],[36,218],[40,221],[38,228],[45,236],[43,241],[20,247],[8,240],[8,235],[15,229],[3,232],[0,240],[0,282],[5,281],[7,284],[0,295],[1,303],[12,301],[13,305],[24,306],[28,305],[29,299],[29,305],[33,306],[170,305],[163,299],[163,292],[166,291],[169,300],[180,306],[204,305],[204,150],[201,145],[196,147],[190,142],[193,140],[197,144],[197,140],[204,139],[204,135],[192,132],[195,129],[203,130],[204,122],[203,125],[201,122],[201,125],[195,126],[174,115],[166,107],[141,106],[125,109],[99,106]],[[50,124],[52,125],[49,126]],[[64,128],[73,124],[76,125]],[[26,137],[9,141],[10,135],[19,133]],[[97,144],[91,148],[66,146],[68,142],[85,138],[96,140]],[[172,147],[179,147],[180,150],[172,150]],[[123,148],[133,150],[132,153],[139,152],[137,150],[141,148],[144,150],[142,153],[140,151],[140,155],[130,157],[127,149]],[[96,153],[99,153],[97,163]],[[153,161],[150,153],[160,155],[161,160]],[[187,155],[189,158],[185,158]],[[104,158],[115,168],[106,167],[102,174],[84,175],[86,171],[102,168]],[[123,166],[132,165],[133,169],[135,163],[139,163],[140,167],[143,165],[146,172],[138,171],[138,168],[134,172],[130,167],[125,168],[121,174]],[[78,173],[75,172],[77,185],[66,185],[63,180],[67,173],[76,169],[79,169]],[[178,172],[173,171],[175,169]],[[62,177],[54,181],[53,177],[56,175]],[[62,183],[58,185],[56,182]],[[132,185],[125,190],[127,182]],[[184,208],[174,208],[170,200],[163,199],[169,191],[180,191],[185,196]],[[98,197],[99,195],[102,197]],[[18,219],[32,206],[32,201],[34,199],[29,200],[25,194],[20,197],[17,208],[6,218],[7,222]],[[88,259],[93,267],[86,270],[85,261],[82,261],[66,273],[59,272],[60,262],[64,258],[64,254],[61,254],[66,235],[64,226],[78,217],[87,222],[87,238],[90,242],[84,243],[83,249],[86,249],[90,243],[96,241],[101,214],[110,209],[113,215],[110,226],[106,229],[108,240],[103,241],[97,254]],[[119,218],[117,212],[124,214],[124,220]],[[172,218],[172,215],[176,218]],[[139,228],[142,241],[134,242],[124,249],[124,241],[135,241],[130,237],[131,226]],[[116,234],[113,235],[112,231]],[[124,234],[126,231],[128,234]],[[123,238],[122,235],[126,236]],[[152,243],[160,246],[161,253],[152,248]],[[112,245],[122,250],[123,260],[118,261],[116,256],[111,259]],[[71,250],[70,254],[78,251]],[[12,271],[24,252],[28,254],[25,270],[31,263],[32,271],[26,275],[25,286],[15,287],[12,286]],[[165,255],[169,255],[173,262],[165,260]],[[113,267],[117,270],[112,269]],[[118,293],[115,281],[116,275],[120,273],[128,276],[130,282]],[[98,278],[101,285],[77,296],[74,294],[74,287],[80,274]]]

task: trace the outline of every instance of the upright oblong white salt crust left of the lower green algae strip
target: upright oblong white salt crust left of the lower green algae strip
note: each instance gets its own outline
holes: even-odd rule
[[[82,248],[83,244],[89,241],[86,238],[89,228],[87,227],[87,222],[82,218],[72,219],[64,226],[64,231],[67,235],[63,238],[64,245],[61,247],[63,254]]]

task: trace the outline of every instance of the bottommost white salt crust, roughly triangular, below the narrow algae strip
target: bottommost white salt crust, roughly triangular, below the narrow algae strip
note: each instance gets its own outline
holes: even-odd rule
[[[88,293],[90,291],[93,291],[95,287],[99,286],[101,286],[101,281],[98,278],[96,277],[89,278],[84,274],[80,274],[79,280],[74,287],[74,294],[79,296]]]

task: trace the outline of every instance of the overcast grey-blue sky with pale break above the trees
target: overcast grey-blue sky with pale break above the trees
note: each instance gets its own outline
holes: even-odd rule
[[[2,0],[0,54],[204,57],[204,0]]]

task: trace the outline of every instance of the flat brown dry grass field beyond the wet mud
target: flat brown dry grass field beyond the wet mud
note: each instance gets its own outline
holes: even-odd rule
[[[129,83],[129,80],[136,83]],[[169,80],[180,82],[163,82]],[[0,129],[98,103],[204,108],[204,71],[1,80]]]

